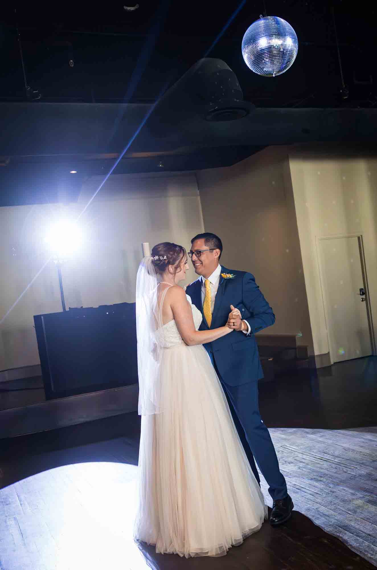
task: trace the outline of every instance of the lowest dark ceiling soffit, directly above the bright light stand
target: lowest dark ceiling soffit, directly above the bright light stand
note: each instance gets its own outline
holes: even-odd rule
[[[113,174],[196,171],[231,166],[261,150],[261,147],[197,149],[189,154],[123,158]],[[1,164],[1,163],[0,163]],[[0,207],[76,202],[83,182],[99,176],[99,185],[112,170],[114,159],[82,157],[14,158],[0,168]],[[74,168],[77,172],[71,174]]]

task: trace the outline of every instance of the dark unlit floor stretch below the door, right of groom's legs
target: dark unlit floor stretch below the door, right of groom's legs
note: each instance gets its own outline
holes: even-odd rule
[[[377,357],[302,370],[259,384],[269,427],[346,429],[377,423]]]

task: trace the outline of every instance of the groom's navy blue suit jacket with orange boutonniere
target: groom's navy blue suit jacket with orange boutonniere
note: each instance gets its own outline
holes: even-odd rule
[[[202,312],[200,331],[223,327],[231,312],[231,304],[240,310],[241,318],[249,323],[251,327],[249,336],[241,331],[233,331],[212,343],[204,344],[207,352],[212,353],[222,380],[230,386],[238,386],[263,378],[254,333],[272,325],[275,322],[275,315],[251,273],[231,271],[224,266],[222,273],[233,274],[234,278],[224,279],[220,275],[211,327],[208,327],[203,315],[201,278],[188,285],[186,293]]]

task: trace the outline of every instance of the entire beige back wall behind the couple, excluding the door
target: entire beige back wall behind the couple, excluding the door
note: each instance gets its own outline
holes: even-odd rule
[[[317,240],[358,234],[376,327],[376,156],[339,145],[270,147],[197,176],[198,185],[194,174],[109,178],[80,218],[83,248],[62,270],[67,308],[134,301],[141,242],[189,248],[205,226],[222,237],[226,266],[255,274],[277,317],[265,332],[301,332],[299,344],[323,355],[329,346]],[[101,181],[89,179],[79,201],[66,206],[0,208],[0,321],[23,294],[0,324],[0,370],[39,363],[33,315],[62,310],[56,267],[43,268],[46,226],[77,217]],[[187,282],[193,279],[190,264]]]

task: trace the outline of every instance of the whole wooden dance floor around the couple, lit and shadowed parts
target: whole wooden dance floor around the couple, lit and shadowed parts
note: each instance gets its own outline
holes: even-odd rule
[[[278,398],[280,390],[281,398],[295,393],[298,406],[298,394],[308,396],[309,390],[314,401],[316,390],[323,388],[321,382],[308,379],[301,379],[296,388],[269,384],[268,390],[261,388],[263,406],[268,394]],[[341,397],[338,391],[338,400]],[[262,410],[267,424],[271,402]],[[292,519],[278,528],[265,523],[260,532],[219,558],[157,555],[153,547],[134,544],[140,436],[136,413],[0,439],[0,569],[374,568],[377,429],[339,425],[337,406],[331,420],[335,429],[329,429],[323,424],[325,417],[330,422],[330,402],[321,402],[317,412],[308,409],[309,426],[271,429],[295,503]],[[368,402],[375,406],[371,394]],[[348,405],[343,398],[343,424]],[[279,422],[276,413],[274,419]],[[359,420],[352,416],[350,421],[360,425]],[[264,481],[263,491],[271,504]]]

